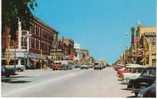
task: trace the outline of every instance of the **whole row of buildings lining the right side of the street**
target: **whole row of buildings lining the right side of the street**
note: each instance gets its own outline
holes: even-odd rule
[[[140,64],[156,66],[156,28],[137,25],[131,28],[131,46],[116,64]]]

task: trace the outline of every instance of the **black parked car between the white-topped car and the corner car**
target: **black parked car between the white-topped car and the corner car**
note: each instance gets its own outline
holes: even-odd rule
[[[137,79],[132,79],[129,81],[127,88],[132,90],[135,95],[138,95],[138,92],[142,88],[146,88],[152,85],[156,80],[156,68],[148,67],[142,72],[142,74]]]

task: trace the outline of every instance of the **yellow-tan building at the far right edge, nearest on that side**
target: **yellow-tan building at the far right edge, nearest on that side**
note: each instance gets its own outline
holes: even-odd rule
[[[143,51],[142,63],[144,65],[156,66],[156,28],[140,27],[139,48]]]

